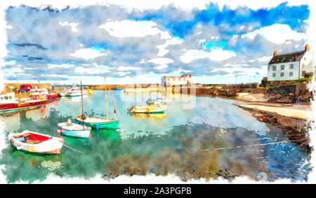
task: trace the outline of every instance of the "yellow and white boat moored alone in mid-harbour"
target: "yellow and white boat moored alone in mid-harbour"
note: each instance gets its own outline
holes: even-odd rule
[[[159,101],[154,101],[154,104],[147,106],[135,106],[132,104],[129,108],[127,108],[127,111],[133,113],[164,113],[167,108],[168,105],[161,104]]]

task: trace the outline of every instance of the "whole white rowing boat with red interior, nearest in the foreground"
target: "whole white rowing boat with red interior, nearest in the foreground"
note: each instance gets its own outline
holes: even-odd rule
[[[60,155],[64,139],[40,134],[37,132],[23,131],[20,134],[8,134],[12,146],[18,150],[29,153],[42,153]]]

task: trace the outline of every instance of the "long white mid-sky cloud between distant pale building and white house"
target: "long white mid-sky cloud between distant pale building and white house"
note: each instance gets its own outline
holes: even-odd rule
[[[236,53],[222,48],[213,48],[211,52],[204,50],[188,50],[184,55],[180,57],[181,62],[188,63],[195,59],[209,58],[215,61],[223,61],[230,57],[236,57]]]

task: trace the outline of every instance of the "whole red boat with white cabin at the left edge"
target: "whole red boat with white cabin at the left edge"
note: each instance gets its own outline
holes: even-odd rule
[[[49,97],[51,97],[51,99],[47,99],[48,97],[42,97],[41,99],[15,99],[14,93],[0,95],[0,113],[44,106],[55,101],[55,99],[57,99],[57,94],[53,94]]]

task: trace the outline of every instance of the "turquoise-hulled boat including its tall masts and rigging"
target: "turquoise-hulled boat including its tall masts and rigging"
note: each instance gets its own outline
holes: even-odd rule
[[[106,78],[105,78],[105,85],[106,85]],[[81,91],[82,91],[82,85],[81,85]],[[114,107],[114,113],[117,115],[117,110],[115,109],[113,97],[111,90],[109,90],[110,96],[112,99],[112,104]],[[105,88],[105,108],[106,108],[106,118],[95,118],[90,116],[85,116],[84,113],[82,113],[81,116],[78,116],[75,118],[76,122],[79,124],[83,124],[88,127],[93,127],[95,129],[116,129],[119,125],[119,115],[117,115],[118,119],[109,119],[107,114],[107,88]]]

